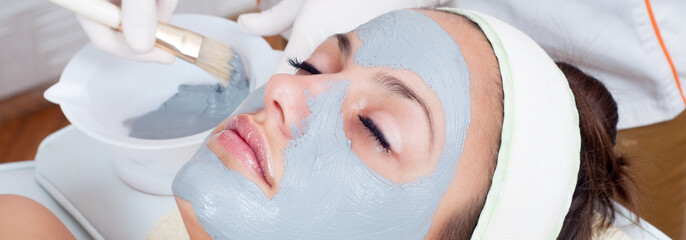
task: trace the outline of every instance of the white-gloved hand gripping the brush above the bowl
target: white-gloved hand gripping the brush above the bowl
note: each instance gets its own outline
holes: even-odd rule
[[[110,54],[142,61],[170,64],[174,55],[153,47],[157,22],[169,22],[178,0],[111,0],[121,2],[121,28],[108,26],[76,16],[93,45]]]

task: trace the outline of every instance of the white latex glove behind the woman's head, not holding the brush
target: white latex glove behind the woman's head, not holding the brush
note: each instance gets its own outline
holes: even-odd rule
[[[384,13],[403,8],[434,7],[449,0],[282,0],[260,13],[238,17],[238,25],[261,36],[291,31],[277,73],[293,73],[287,58],[304,60],[329,36],[355,29]]]

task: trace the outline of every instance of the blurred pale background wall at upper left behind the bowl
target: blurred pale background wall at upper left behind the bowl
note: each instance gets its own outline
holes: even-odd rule
[[[176,13],[233,17],[255,0],[180,0]],[[46,0],[0,0],[0,101],[57,81],[88,39],[76,17]]]

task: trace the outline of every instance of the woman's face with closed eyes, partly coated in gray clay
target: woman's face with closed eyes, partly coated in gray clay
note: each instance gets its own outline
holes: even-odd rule
[[[406,237],[442,221],[470,71],[424,14],[445,17],[399,11],[332,36],[248,98],[262,107],[219,124],[174,183],[189,233]]]

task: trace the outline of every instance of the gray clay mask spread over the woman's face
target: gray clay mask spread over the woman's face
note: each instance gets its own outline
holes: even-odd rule
[[[455,174],[469,125],[469,72],[458,45],[424,14],[395,11],[360,26],[354,56],[364,67],[407,69],[438,95],[446,139],[435,171],[393,183],[371,171],[351,149],[342,104],[351,80],[324,82],[312,114],[284,150],[280,191],[268,199],[251,181],[227,169],[205,145],[177,174],[174,194],[192,203],[215,239],[420,239]],[[237,112],[260,107],[258,90]],[[313,117],[316,116],[316,117]]]

